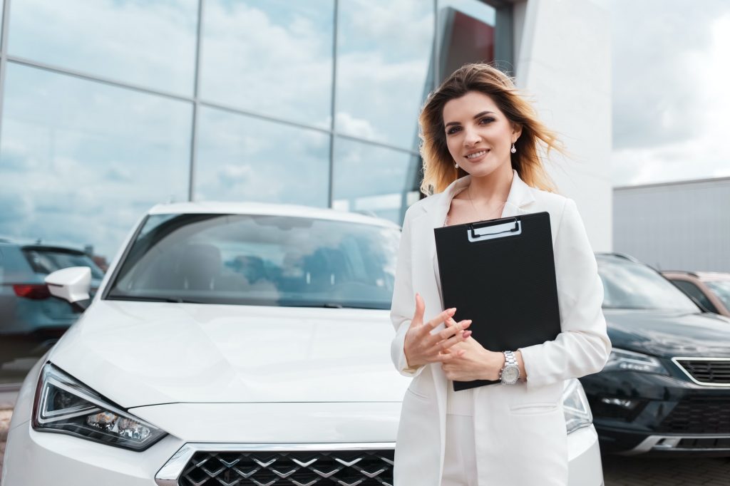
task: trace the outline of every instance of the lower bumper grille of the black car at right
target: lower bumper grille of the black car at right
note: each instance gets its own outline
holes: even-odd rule
[[[730,397],[684,398],[662,420],[658,431],[730,434]]]

